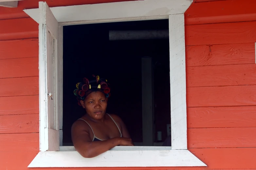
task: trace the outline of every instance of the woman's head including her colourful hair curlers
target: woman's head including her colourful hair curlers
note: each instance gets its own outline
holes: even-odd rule
[[[107,80],[93,75],[91,78],[83,78],[83,82],[77,83],[76,87],[74,94],[77,96],[78,104],[85,108],[91,118],[101,119],[110,97]]]

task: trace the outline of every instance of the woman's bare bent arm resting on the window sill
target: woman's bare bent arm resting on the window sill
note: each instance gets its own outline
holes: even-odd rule
[[[91,141],[88,127],[82,121],[78,120],[71,128],[74,147],[84,158],[96,157],[118,145],[133,146],[131,139],[121,137],[104,141]]]

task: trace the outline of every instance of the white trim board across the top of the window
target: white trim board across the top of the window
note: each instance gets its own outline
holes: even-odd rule
[[[137,0],[91,5],[51,7],[60,25],[168,19],[171,14],[183,14],[192,0]],[[38,8],[24,10],[32,19],[39,21]],[[64,12],[65,11],[65,12]]]

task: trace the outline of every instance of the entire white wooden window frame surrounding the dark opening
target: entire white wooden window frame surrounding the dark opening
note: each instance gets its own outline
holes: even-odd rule
[[[39,7],[46,3],[39,2]],[[56,81],[53,89],[56,121],[62,137],[62,90],[63,90],[63,26],[88,23],[139,21],[169,19],[170,42],[170,84],[171,84],[171,135],[172,147],[121,147],[117,146],[95,158],[83,158],[74,147],[51,144],[45,137],[42,119],[49,121],[47,109],[40,107],[40,152],[28,167],[174,167],[207,166],[187,149],[187,104],[186,104],[186,67],[185,67],[185,26],[184,12],[192,0],[144,0],[114,2],[92,5],[51,7],[51,15],[58,23],[58,51],[55,57],[54,75]],[[47,4],[46,10],[47,10]],[[42,8],[24,10],[39,23]],[[48,13],[49,13],[48,11]],[[41,17],[44,18],[43,15]],[[41,19],[42,20],[42,19]],[[43,19],[44,20],[44,19]],[[49,21],[53,24],[53,21]],[[53,24],[54,25],[54,24]],[[40,27],[40,25],[39,25]],[[41,35],[40,35],[41,34]],[[42,45],[42,31],[39,30],[39,48]],[[42,50],[42,49],[41,49]],[[40,51],[40,50],[39,50]],[[40,58],[40,57],[39,57]],[[45,61],[39,59],[39,68]],[[42,70],[41,70],[42,71]],[[45,68],[44,76],[47,76]],[[47,100],[47,77],[39,75],[39,94]],[[56,97],[56,98],[55,98]],[[44,98],[40,100],[45,103]],[[49,98],[49,97],[48,97]],[[47,122],[45,122],[47,123]],[[43,140],[43,138],[45,140]],[[62,139],[61,139],[62,141]],[[53,145],[54,147],[49,147]],[[57,147],[55,147],[57,145]]]

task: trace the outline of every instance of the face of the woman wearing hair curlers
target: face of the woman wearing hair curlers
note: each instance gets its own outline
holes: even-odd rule
[[[103,92],[91,92],[80,101],[86,113],[93,119],[102,119],[107,109],[107,98]]]

